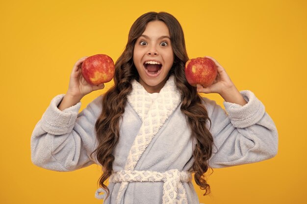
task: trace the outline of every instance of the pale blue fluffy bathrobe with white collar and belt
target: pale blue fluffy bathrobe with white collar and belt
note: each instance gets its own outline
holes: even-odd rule
[[[278,132],[264,105],[252,91],[240,91],[247,104],[224,101],[225,110],[204,99],[213,136],[212,168],[270,159],[277,154]],[[31,136],[31,159],[54,171],[73,171],[100,163],[90,154],[98,146],[95,122],[102,112],[102,96],[80,113],[80,102],[63,111],[64,94],[51,100]],[[180,111],[181,95],[170,76],[158,97],[137,81],[132,83],[109,178],[104,204],[199,204],[191,182],[196,140]],[[100,195],[98,193],[102,192]],[[102,189],[96,197],[105,198]]]

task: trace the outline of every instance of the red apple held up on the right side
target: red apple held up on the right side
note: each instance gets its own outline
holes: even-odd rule
[[[188,83],[196,87],[197,84],[204,88],[210,86],[217,75],[217,67],[213,60],[207,57],[190,59],[185,63],[185,77]]]

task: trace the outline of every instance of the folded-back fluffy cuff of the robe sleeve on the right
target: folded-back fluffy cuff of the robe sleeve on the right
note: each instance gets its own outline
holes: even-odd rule
[[[224,101],[232,125],[236,128],[246,128],[256,124],[264,115],[265,108],[252,91],[240,91],[247,101],[244,106]]]

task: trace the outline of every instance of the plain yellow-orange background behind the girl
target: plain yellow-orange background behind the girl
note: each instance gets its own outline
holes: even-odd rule
[[[148,11],[181,23],[190,58],[214,57],[239,90],[252,90],[279,131],[278,155],[214,169],[205,204],[306,202],[307,3],[305,0],[1,0],[0,203],[102,204],[100,168],[53,172],[30,160],[32,130],[65,93],[82,56],[122,53],[131,24]],[[111,83],[108,84],[109,87]],[[82,99],[82,109],[103,91]],[[222,105],[217,94],[207,97]]]

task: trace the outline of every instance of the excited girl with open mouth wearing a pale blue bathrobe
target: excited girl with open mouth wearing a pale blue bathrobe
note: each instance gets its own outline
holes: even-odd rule
[[[104,88],[85,82],[85,59],[75,64],[67,93],[54,97],[37,123],[31,158],[55,171],[101,165],[96,196],[104,204],[198,204],[192,172],[206,195],[208,168],[277,154],[277,130],[263,104],[253,92],[239,92],[215,59],[211,86],[187,83],[183,31],[168,13],[149,12],[132,24],[114,86],[78,114],[80,99]],[[198,92],[219,93],[227,113]]]

